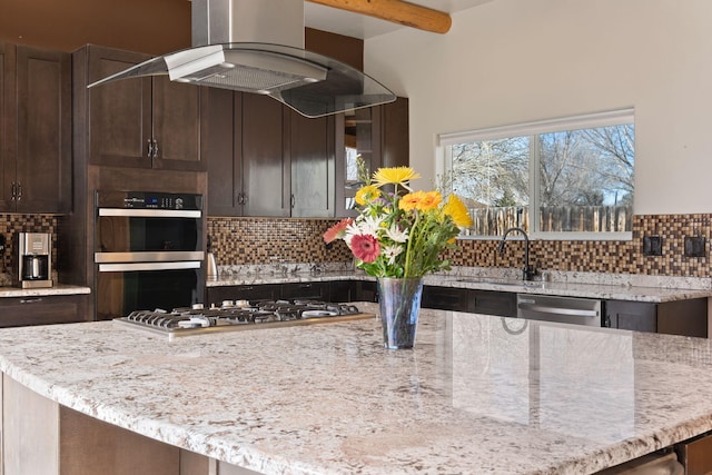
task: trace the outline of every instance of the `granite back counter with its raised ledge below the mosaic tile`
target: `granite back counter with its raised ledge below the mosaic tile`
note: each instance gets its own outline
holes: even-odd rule
[[[299,281],[375,280],[350,263],[218,266],[208,287]],[[544,270],[524,281],[518,268],[456,267],[425,277],[425,285],[517,294],[663,303],[712,296],[712,278]]]

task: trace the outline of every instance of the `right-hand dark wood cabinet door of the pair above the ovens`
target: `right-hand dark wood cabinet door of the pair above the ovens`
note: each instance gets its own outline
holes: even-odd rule
[[[200,100],[204,88],[154,78],[154,168],[204,170],[200,154]]]

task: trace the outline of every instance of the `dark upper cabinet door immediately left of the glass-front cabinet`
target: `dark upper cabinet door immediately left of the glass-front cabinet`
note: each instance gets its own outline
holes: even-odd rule
[[[308,119],[289,111],[291,216],[334,217],[334,117]]]

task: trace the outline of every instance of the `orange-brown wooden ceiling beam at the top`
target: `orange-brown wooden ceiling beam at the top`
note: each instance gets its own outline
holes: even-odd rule
[[[403,0],[306,0],[312,3],[324,4],[352,11],[354,13],[367,14],[394,23],[419,30],[432,31],[434,33],[446,33],[449,31],[452,19],[448,13],[433,10],[419,4],[409,3]]]

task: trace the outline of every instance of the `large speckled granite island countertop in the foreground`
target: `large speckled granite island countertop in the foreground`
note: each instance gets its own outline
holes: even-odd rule
[[[708,339],[441,310],[396,352],[374,318],[171,342],[113,321],[9,328],[4,475],[18,388],[258,473],[595,473],[711,431],[711,369]]]

